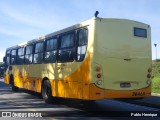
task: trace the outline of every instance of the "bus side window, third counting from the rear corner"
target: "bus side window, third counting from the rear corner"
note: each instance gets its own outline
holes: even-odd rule
[[[44,62],[56,62],[57,56],[57,38],[52,38],[46,41],[46,52],[44,57]]]

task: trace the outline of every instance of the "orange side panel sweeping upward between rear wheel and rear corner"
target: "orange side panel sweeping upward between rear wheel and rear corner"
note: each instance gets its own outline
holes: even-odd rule
[[[62,80],[50,80],[53,91],[52,96],[89,99],[89,81],[90,55],[71,75],[63,78]]]

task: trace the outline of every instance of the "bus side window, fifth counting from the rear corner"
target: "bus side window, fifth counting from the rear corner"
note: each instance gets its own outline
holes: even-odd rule
[[[25,53],[25,63],[31,64],[32,63],[32,56],[33,56],[33,45],[26,46],[26,53]]]

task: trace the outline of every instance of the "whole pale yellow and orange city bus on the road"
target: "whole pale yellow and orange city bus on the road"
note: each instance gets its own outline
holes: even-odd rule
[[[54,97],[81,100],[151,96],[151,28],[92,18],[10,47],[4,81]]]

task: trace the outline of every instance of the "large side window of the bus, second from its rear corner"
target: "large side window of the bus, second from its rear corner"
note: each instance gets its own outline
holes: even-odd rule
[[[74,61],[75,47],[74,47],[74,32],[62,35],[60,37],[60,50],[58,54],[58,62],[72,62]]]

